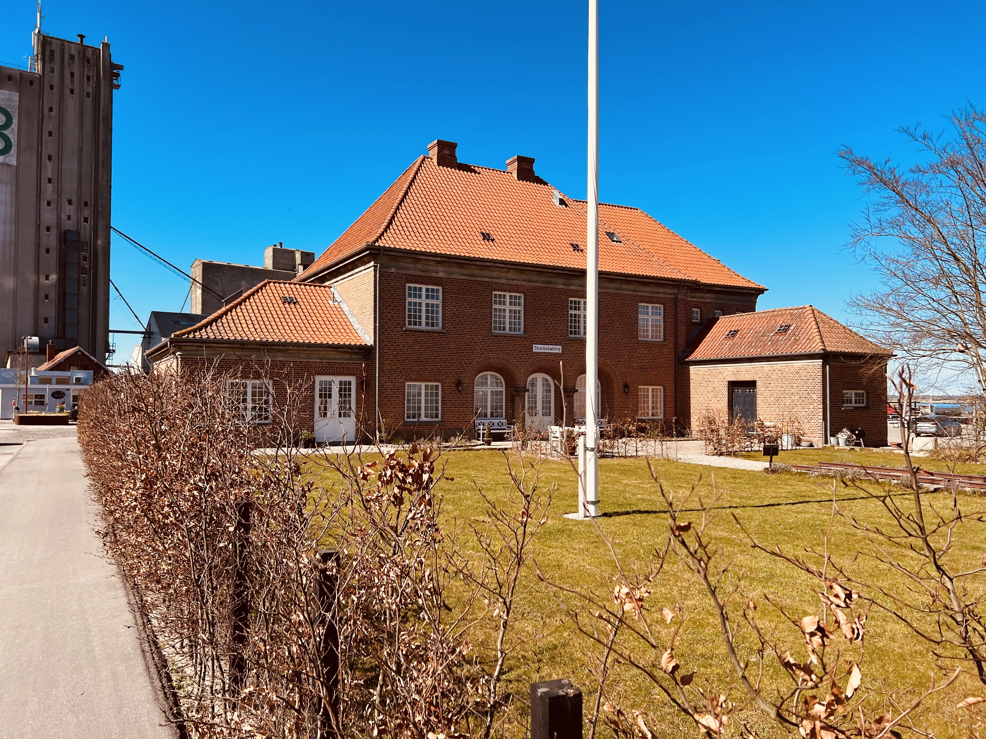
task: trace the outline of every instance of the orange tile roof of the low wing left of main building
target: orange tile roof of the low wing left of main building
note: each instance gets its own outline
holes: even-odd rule
[[[284,299],[289,300],[285,301]],[[264,280],[174,337],[367,345],[327,285]]]

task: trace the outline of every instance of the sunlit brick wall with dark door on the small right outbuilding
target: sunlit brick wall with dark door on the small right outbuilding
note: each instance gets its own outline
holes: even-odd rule
[[[689,365],[691,409],[696,427],[706,411],[730,414],[731,381],[756,381],[756,412],[763,421],[797,418],[806,437],[821,440],[824,433],[824,370],[820,359],[802,362],[749,362]]]

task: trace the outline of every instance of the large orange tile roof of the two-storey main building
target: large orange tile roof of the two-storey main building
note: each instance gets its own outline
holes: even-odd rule
[[[567,207],[560,207],[553,194],[543,180],[421,157],[297,279],[368,244],[585,269],[586,202],[562,195]],[[763,290],[642,210],[619,205],[599,208],[599,270]]]

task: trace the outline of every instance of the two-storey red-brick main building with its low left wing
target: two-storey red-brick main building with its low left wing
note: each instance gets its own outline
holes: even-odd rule
[[[260,283],[147,359],[237,369],[253,423],[304,393],[320,440],[579,423],[586,203],[528,157],[496,169],[459,162],[453,142],[428,151],[293,280]],[[699,350],[719,320],[760,315],[764,291],[643,211],[600,205],[600,416],[686,427],[703,403],[731,413],[740,380],[698,380]]]

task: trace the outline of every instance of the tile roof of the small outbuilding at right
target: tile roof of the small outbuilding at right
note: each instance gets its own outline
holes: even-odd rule
[[[778,333],[784,325],[788,328]],[[882,357],[892,354],[811,305],[710,319],[691,347],[688,362],[825,352]]]

